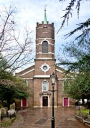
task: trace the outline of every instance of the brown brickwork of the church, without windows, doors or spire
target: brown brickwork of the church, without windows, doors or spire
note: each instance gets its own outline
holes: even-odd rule
[[[42,42],[48,42],[48,53],[42,53]],[[19,73],[17,76],[22,77],[28,81],[30,97],[28,98],[28,106],[41,107],[42,97],[49,96],[49,103],[51,106],[52,94],[42,94],[42,83],[46,80],[49,83],[49,90],[52,89],[50,76],[53,72],[56,73],[58,79],[55,84],[55,106],[63,105],[63,98],[66,95],[63,92],[63,69],[55,65],[55,37],[54,37],[54,24],[39,24],[36,27],[36,58],[35,65],[31,66]],[[49,70],[44,72],[41,70],[43,64],[49,65]],[[45,77],[44,77],[45,76]],[[42,95],[41,95],[42,94]],[[70,103],[73,103],[70,100]]]

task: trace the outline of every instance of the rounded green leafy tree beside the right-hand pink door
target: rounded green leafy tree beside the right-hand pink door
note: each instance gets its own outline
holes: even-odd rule
[[[80,73],[74,80],[65,81],[65,92],[72,98],[90,100],[90,73]]]

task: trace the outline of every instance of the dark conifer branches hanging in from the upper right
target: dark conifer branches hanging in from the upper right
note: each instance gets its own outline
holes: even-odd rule
[[[60,2],[65,2],[66,0],[60,0]],[[69,19],[73,15],[74,7],[76,6],[77,15],[79,16],[80,7],[83,2],[88,2],[89,0],[70,0],[69,4],[65,8],[65,14],[63,15],[63,21],[61,24],[60,29],[64,26],[65,22],[68,22]],[[81,71],[83,69],[87,70],[90,69],[90,18],[88,18],[84,23],[80,23],[76,29],[69,32],[66,36],[71,36],[77,31],[81,31],[82,33],[76,37],[76,39],[68,45],[65,45],[63,48],[63,52],[66,55],[65,60],[60,58],[61,63],[64,65],[68,65],[69,70],[73,71]],[[59,29],[59,30],[60,30]],[[67,59],[70,57],[70,60]],[[73,61],[72,61],[73,60]],[[83,68],[83,69],[82,69]]]

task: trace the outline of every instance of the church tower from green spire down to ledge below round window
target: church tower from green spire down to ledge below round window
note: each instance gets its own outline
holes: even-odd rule
[[[42,21],[42,23],[37,23],[36,26],[35,75],[48,75],[52,72],[55,72],[54,47],[54,23],[48,23],[45,9],[44,21]]]

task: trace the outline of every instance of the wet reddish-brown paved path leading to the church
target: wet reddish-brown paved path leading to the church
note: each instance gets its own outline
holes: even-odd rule
[[[55,108],[55,128],[88,128],[74,117],[73,108]],[[23,121],[17,128],[51,128],[51,108],[21,110]]]

